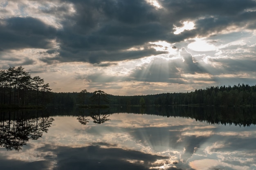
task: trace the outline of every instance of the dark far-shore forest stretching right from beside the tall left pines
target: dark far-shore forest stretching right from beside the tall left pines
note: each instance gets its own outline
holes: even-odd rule
[[[73,106],[76,104],[110,104],[110,105],[196,105],[196,106],[255,106],[256,86],[238,84],[231,86],[211,86],[187,93],[162,93],[156,95],[119,96],[104,92],[100,98],[98,91],[94,93],[54,93],[54,106]],[[104,98],[103,98],[104,96]]]

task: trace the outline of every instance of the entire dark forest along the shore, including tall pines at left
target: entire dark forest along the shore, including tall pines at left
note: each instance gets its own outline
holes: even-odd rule
[[[39,76],[31,77],[22,66],[0,71],[0,105],[53,106],[58,108],[86,105],[130,106],[254,106],[256,86],[210,86],[187,93],[119,96],[98,90],[54,93]]]

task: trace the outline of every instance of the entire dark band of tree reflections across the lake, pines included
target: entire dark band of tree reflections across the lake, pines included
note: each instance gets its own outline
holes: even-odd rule
[[[160,115],[164,117],[186,117],[210,124],[235,124],[250,126],[256,124],[255,107],[116,107],[106,109],[78,110],[15,110],[0,111],[0,146],[7,150],[20,150],[29,139],[36,140],[47,132],[54,119],[51,116],[73,115],[86,125],[89,117],[96,124],[110,120],[113,113]],[[47,113],[47,115],[46,115]]]

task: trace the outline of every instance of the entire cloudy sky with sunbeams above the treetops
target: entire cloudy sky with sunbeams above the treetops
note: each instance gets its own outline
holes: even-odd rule
[[[0,0],[0,69],[53,92],[256,84],[256,0]]]

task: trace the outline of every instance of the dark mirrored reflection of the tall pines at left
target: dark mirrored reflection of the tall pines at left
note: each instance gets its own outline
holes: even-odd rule
[[[21,150],[29,139],[42,137],[51,126],[53,118],[39,117],[38,111],[34,117],[27,117],[24,110],[1,111],[0,115],[0,146],[7,150]]]

